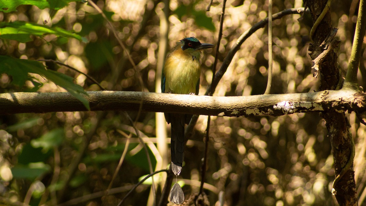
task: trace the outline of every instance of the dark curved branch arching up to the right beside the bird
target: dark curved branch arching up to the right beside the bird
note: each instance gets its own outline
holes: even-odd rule
[[[303,14],[303,12],[304,12],[304,7],[301,7],[301,8],[290,8],[290,9],[286,9],[286,10],[283,10],[281,12],[278,12],[278,13],[272,15],[272,19],[273,20],[280,19],[283,16],[290,15],[290,14]],[[225,57],[225,59],[223,61],[223,64],[221,65],[220,70],[215,74],[214,81],[212,81],[211,86],[206,91],[206,94],[205,95],[210,95],[210,94],[213,94],[214,93],[214,91],[215,91],[215,89],[217,87],[217,84],[219,84],[219,81],[221,80],[221,78],[225,74],[228,66],[231,63],[232,58],[234,58],[234,55],[240,49],[240,46],[243,44],[243,42],[247,38],[249,38],[250,35],[253,34],[255,31],[257,31],[260,28],[263,28],[267,23],[268,23],[268,18],[265,18],[264,20],[256,23],[250,29],[246,30],[246,32],[244,32],[242,34],[242,36],[240,36],[238,38],[238,40],[236,40],[236,43],[231,47],[231,49],[229,50],[227,56]]]

